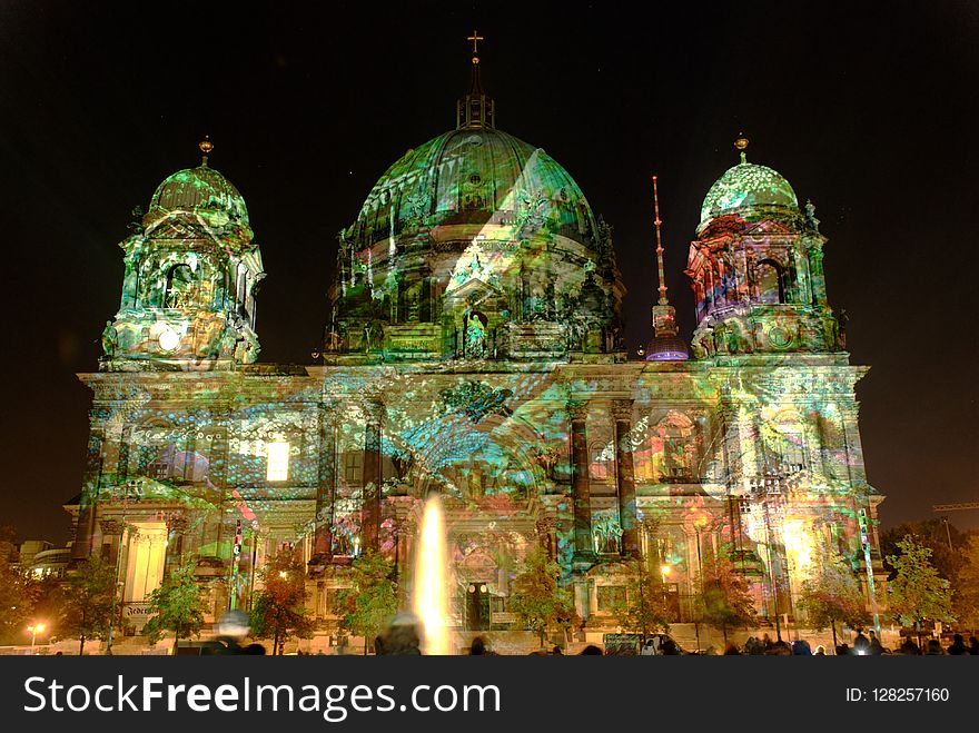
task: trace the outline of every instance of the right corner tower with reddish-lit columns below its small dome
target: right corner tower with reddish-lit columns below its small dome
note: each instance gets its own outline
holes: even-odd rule
[[[686,275],[696,301],[695,358],[718,354],[844,349],[827,303],[815,208],[799,208],[781,175],[741,162],[708,191]]]

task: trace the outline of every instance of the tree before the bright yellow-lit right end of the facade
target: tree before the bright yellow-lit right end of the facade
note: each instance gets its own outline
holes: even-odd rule
[[[835,647],[837,622],[851,628],[862,628],[870,624],[870,614],[860,581],[839,552],[827,549],[820,566],[820,575],[802,584],[799,605],[812,628],[822,631],[829,626],[832,630]]]

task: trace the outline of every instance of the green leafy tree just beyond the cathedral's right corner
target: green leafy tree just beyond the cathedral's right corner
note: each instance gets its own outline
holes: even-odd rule
[[[890,614],[903,626],[924,621],[952,622],[950,583],[931,564],[931,548],[911,535],[897,542],[899,555],[888,555],[894,578],[888,587]]]

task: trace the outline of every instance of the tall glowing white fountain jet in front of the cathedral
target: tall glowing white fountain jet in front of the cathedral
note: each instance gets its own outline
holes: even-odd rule
[[[429,494],[415,552],[414,611],[425,630],[424,654],[449,654],[448,581],[442,499]]]

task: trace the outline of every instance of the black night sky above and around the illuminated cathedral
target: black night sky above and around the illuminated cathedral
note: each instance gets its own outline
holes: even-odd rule
[[[497,127],[614,226],[632,351],[655,291],[650,174],[689,338],[688,246],[743,130],[829,237],[830,304],[872,367],[858,396],[883,525],[979,501],[979,4],[829,4],[3,2],[0,524],[68,539],[90,404],[75,373],[97,369],[119,306],[130,210],[209,135],[261,245],[261,360],[310,364],[336,234],[455,126],[474,27]]]

